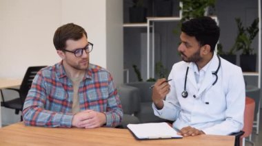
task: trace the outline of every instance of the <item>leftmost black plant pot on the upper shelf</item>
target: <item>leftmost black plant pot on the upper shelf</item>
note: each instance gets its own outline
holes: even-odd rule
[[[129,8],[130,23],[143,23],[146,21],[146,8],[143,7],[143,0],[132,0],[132,7]]]

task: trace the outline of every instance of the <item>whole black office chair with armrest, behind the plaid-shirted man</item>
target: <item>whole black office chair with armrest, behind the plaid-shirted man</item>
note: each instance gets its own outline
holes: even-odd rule
[[[15,99],[11,99],[6,101],[3,97],[3,91],[1,91],[1,106],[6,108],[12,108],[15,110],[15,114],[19,114],[19,111],[23,110],[23,102],[26,99],[26,96],[28,95],[28,90],[31,88],[32,80],[34,79],[34,76],[37,75],[37,72],[46,66],[30,66],[28,67],[26,71],[26,75],[23,77],[23,81],[21,83],[20,88],[5,88],[8,90],[15,90],[19,93],[19,97]],[[23,121],[23,118],[21,117],[21,121]]]

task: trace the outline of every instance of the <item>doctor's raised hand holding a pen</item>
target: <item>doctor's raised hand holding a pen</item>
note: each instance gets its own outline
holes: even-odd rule
[[[163,99],[170,92],[170,85],[165,81],[165,78],[157,80],[152,91],[152,101],[159,110],[163,108]]]

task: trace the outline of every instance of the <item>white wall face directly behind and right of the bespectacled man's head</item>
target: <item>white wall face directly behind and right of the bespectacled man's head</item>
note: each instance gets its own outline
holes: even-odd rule
[[[61,23],[74,22],[85,28],[85,31],[88,33],[88,41],[94,43],[94,49],[90,53],[90,62],[103,67],[107,67],[105,1],[106,0],[63,0],[61,3]]]

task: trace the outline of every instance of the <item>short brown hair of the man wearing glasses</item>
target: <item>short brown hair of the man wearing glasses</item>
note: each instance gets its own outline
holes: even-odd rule
[[[83,37],[83,34],[88,38],[85,29],[79,25],[75,25],[74,23],[62,25],[54,32],[54,47],[57,50],[63,50],[66,48],[66,40],[79,40]]]

